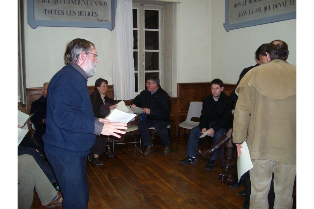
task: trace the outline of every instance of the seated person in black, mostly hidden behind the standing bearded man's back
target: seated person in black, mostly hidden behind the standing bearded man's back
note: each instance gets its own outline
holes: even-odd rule
[[[42,93],[43,95],[37,99],[36,101],[32,102],[32,107],[30,109],[30,114],[35,114],[30,118],[30,121],[35,126],[35,134],[34,138],[36,142],[39,144],[39,150],[41,153],[44,153],[44,142],[42,141],[42,135],[46,132],[46,97],[48,92],[48,85],[49,82],[45,82],[42,86]]]

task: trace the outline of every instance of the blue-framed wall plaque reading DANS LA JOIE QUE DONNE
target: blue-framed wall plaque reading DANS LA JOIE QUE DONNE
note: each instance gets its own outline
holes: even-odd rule
[[[224,28],[245,28],[296,18],[296,0],[225,0]]]

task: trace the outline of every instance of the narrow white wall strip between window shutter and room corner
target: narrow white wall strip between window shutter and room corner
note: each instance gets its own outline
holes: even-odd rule
[[[210,80],[211,1],[178,4],[178,83]]]

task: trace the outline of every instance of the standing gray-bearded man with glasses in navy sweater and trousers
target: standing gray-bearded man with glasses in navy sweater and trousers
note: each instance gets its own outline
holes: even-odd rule
[[[109,123],[110,120],[94,116],[87,79],[94,75],[98,63],[95,45],[85,39],[74,39],[67,46],[65,58],[68,64],[49,83],[43,141],[64,197],[63,209],[86,209],[89,199],[86,157],[95,143],[95,135],[120,138],[117,133],[125,134],[127,124]]]

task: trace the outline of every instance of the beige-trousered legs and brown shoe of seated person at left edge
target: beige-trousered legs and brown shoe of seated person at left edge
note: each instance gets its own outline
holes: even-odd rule
[[[18,156],[18,208],[30,209],[34,187],[47,208],[62,206],[63,197],[56,191],[34,158],[28,154]]]

